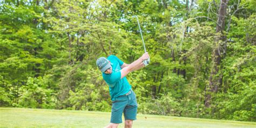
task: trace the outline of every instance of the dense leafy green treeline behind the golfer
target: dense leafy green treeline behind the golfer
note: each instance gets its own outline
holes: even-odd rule
[[[151,64],[127,78],[138,112],[256,121],[256,1],[0,1],[0,106],[111,111],[96,59]]]

